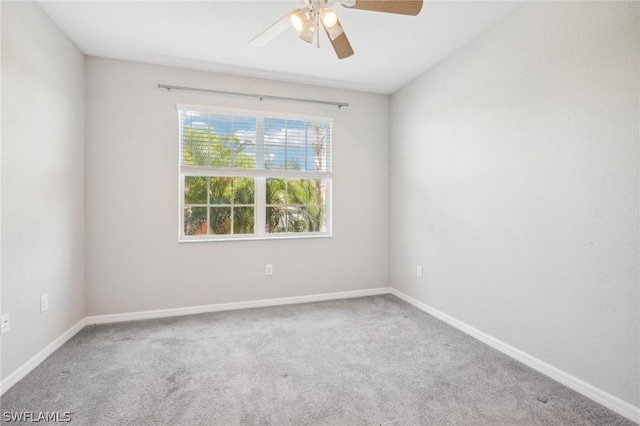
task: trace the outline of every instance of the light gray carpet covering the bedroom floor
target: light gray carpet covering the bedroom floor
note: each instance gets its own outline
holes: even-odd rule
[[[632,425],[394,296],[89,326],[2,399],[72,425]]]

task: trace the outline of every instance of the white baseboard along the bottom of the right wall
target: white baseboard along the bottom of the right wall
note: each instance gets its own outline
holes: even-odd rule
[[[458,330],[461,330],[467,333],[468,335],[480,340],[481,342],[486,343],[487,345],[491,346],[494,349],[499,350],[500,352],[510,356],[511,358],[514,358],[520,361],[521,363],[528,365],[529,367],[533,368],[536,371],[539,371],[545,376],[548,376],[553,380],[562,383],[566,387],[573,389],[578,393],[581,393],[587,398],[594,400],[598,404],[604,405],[608,409],[620,414],[621,416],[624,416],[627,419],[634,421],[636,423],[640,423],[640,408],[626,401],[623,401],[622,399],[614,395],[611,395],[610,393],[605,392],[602,389],[599,389],[583,380],[580,380],[577,377],[572,376],[571,374],[563,370],[560,370],[559,368],[549,365],[546,362],[541,361],[538,358],[535,358],[521,351],[520,349],[516,349],[513,346],[510,346],[478,330],[477,328],[474,328],[456,318],[453,318],[445,314],[444,312],[441,312],[435,308],[432,308],[431,306],[425,303],[422,303],[411,296],[407,296],[406,294],[402,293],[399,290],[396,290],[395,288],[391,289],[391,294],[397,296],[398,298],[404,300],[407,303],[412,304],[416,308],[421,309],[430,315],[433,315],[439,320],[444,321],[449,325],[452,325]]]

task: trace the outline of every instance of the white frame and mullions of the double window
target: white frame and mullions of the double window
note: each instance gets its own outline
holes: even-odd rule
[[[319,117],[302,114],[286,114],[270,111],[223,108],[210,105],[178,104],[178,242],[212,242],[212,241],[255,241],[255,240],[278,240],[297,238],[329,238],[332,233],[332,184],[333,184],[333,161],[330,162],[331,170],[327,172],[305,172],[295,170],[272,170],[272,169],[222,169],[190,167],[181,164],[182,156],[182,126],[180,122],[181,110],[209,112],[214,114],[237,115],[243,117],[256,117],[256,164],[262,164],[264,159],[264,119],[288,119],[300,120],[315,123],[333,125],[333,118]],[[333,157],[333,131],[330,140],[330,155]],[[254,233],[253,234],[224,234],[224,235],[185,235],[184,234],[184,182],[186,176],[206,176],[206,177],[251,177],[254,179]],[[325,186],[325,231],[324,232],[266,232],[266,180],[270,178],[284,179],[324,179]],[[208,204],[208,203],[207,203]]]

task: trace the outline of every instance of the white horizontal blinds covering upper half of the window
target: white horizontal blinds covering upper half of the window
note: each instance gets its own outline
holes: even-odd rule
[[[331,172],[331,124],[180,111],[183,168]]]

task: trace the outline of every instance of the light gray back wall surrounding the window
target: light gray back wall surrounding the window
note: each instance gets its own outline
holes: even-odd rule
[[[88,315],[388,285],[389,96],[95,57],[86,72]],[[157,83],[351,106],[168,93]],[[177,103],[334,117],[333,238],[178,243]]]

